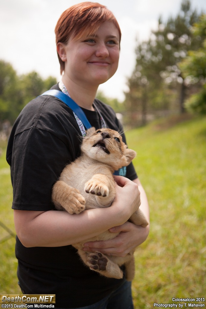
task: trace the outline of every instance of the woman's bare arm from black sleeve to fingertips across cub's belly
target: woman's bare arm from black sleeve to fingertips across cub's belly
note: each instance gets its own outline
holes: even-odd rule
[[[90,209],[78,215],[55,210],[15,210],[19,240],[25,247],[65,246],[86,241],[112,226],[123,224],[138,209],[140,193],[132,181],[124,177],[118,178],[118,181],[121,186],[116,186],[115,201],[108,208]]]

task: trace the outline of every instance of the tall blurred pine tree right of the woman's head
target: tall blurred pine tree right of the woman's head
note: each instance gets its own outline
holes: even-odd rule
[[[137,43],[136,66],[128,78],[125,104],[141,112],[142,124],[148,110],[179,108],[184,112],[187,84],[178,62],[187,56],[189,49],[197,50],[201,45],[202,36],[197,38],[191,31],[200,15],[191,10],[189,0],[183,0],[175,18],[170,17],[166,23],[159,18],[158,30],[151,32],[149,40]]]

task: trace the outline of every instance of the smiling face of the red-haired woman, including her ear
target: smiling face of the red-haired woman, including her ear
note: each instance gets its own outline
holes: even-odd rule
[[[77,84],[98,87],[117,70],[120,36],[112,22],[104,22],[95,35],[78,40],[70,38],[66,45],[62,44],[62,48],[65,77]]]

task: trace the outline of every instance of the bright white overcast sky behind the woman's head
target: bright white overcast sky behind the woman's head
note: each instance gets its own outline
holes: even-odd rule
[[[61,13],[75,0],[0,0],[0,59],[10,62],[17,74],[38,72],[42,78],[52,75],[60,80],[54,28]],[[95,1],[92,1],[95,2]],[[181,0],[102,0],[122,31],[119,68],[99,86],[105,95],[124,99],[126,78],[135,66],[135,38],[147,40],[156,29],[159,16],[166,21],[180,11]],[[191,0],[192,8],[206,12],[205,0]]]

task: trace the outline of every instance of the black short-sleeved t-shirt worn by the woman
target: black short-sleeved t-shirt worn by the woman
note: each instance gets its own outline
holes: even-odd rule
[[[58,85],[52,87],[59,89]],[[95,99],[108,128],[123,132],[115,112]],[[99,114],[83,109],[100,128]],[[11,166],[13,204],[16,210],[53,210],[51,189],[61,171],[80,155],[81,131],[72,110],[53,96],[39,96],[23,108],[13,126],[6,159]],[[123,134],[123,140],[125,137]],[[137,178],[132,163],[130,180]],[[18,277],[26,294],[56,294],[57,307],[83,307],[96,303],[124,279],[100,276],[80,260],[71,245],[24,247],[17,237]],[[81,291],[81,298],[79,298]]]

